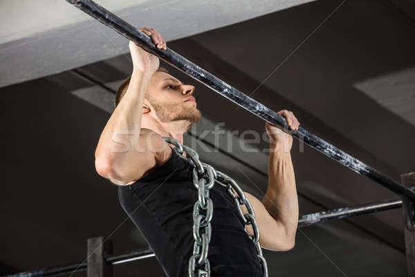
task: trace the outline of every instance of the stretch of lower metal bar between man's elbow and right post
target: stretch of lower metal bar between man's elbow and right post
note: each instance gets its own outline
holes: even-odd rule
[[[400,208],[401,206],[402,199],[396,198],[386,199],[380,202],[374,202],[370,204],[362,204],[358,206],[351,206],[345,208],[336,208],[331,211],[302,215],[302,217],[299,217],[298,226],[304,227],[331,220],[342,220],[346,217],[351,217],[354,215],[366,215],[368,213],[387,211],[391,210],[392,208]]]

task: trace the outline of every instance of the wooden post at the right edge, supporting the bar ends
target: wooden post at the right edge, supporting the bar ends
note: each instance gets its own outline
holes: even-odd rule
[[[400,175],[403,186],[415,190],[415,172]],[[415,277],[415,202],[403,196],[405,252],[409,277]]]

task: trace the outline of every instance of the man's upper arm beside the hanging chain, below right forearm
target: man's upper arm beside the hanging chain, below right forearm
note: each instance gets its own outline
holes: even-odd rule
[[[244,192],[249,199],[250,204],[255,212],[255,220],[259,229],[259,244],[261,247],[270,249],[273,251],[288,250],[288,242],[286,241],[286,233],[284,226],[275,220],[270,213],[266,210],[264,204],[262,204],[257,197]],[[243,214],[248,213],[248,209],[245,205],[241,206]],[[254,231],[252,225],[246,225],[246,231],[248,234],[253,235]]]

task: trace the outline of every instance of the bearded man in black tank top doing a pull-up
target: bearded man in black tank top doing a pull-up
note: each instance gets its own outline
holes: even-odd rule
[[[166,49],[154,29],[143,28],[154,44]],[[187,276],[192,255],[192,209],[197,191],[192,166],[163,136],[183,144],[183,134],[197,123],[194,86],[159,69],[156,56],[129,43],[133,73],[120,87],[116,109],[95,152],[99,175],[119,185],[120,204],[153,249],[167,276]],[[299,122],[291,111],[279,111],[291,129]],[[254,208],[261,247],[287,251],[294,247],[298,201],[291,161],[293,138],[266,123],[270,138],[268,190],[261,202],[245,193]],[[263,276],[255,246],[237,208],[219,184],[210,190],[214,204],[208,260],[211,276]],[[242,206],[244,214],[248,213]],[[245,232],[244,228],[246,228]]]

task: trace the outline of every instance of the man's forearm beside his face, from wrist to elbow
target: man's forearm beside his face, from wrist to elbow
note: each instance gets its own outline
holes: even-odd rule
[[[131,149],[133,139],[140,134],[142,104],[150,78],[151,75],[133,71],[124,97],[102,131],[95,157],[100,154],[113,156],[114,153],[128,152]]]

